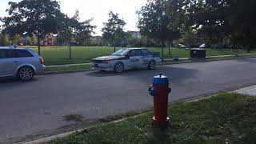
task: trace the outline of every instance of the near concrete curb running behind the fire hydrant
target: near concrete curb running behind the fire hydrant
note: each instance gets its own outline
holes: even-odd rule
[[[239,90],[239,89],[246,88],[246,87],[249,87],[249,86],[255,86],[255,83],[254,84],[243,85],[243,86],[237,86],[237,87],[234,87],[234,88],[229,88],[229,89],[221,90],[221,91],[214,92],[214,93],[202,94],[202,95],[194,96],[192,98],[183,98],[183,99],[180,99],[180,100],[177,100],[177,101],[174,101],[174,102],[169,102],[168,106],[173,105],[173,104],[178,103],[178,102],[197,102],[197,101],[200,101],[200,100],[205,99],[205,98],[211,98],[214,95],[220,94],[220,93],[226,93],[226,92],[234,93],[234,90]],[[134,116],[130,116],[130,117],[127,117],[127,118],[136,118],[136,117],[141,116],[141,115],[143,115],[144,113],[146,113],[150,110],[153,110],[153,107],[146,108],[145,110],[141,111],[141,114],[136,114]],[[114,121],[111,121],[111,122],[102,123],[102,125],[109,124],[109,123],[122,122],[122,121],[125,121],[127,118],[122,118],[122,119],[114,120]],[[50,142],[54,139],[65,138],[65,137],[69,136],[70,134],[79,133],[79,132],[82,132],[84,130],[90,130],[91,128],[94,128],[96,126],[98,126],[98,125],[88,126],[88,127],[82,128],[82,129],[73,130],[73,131],[70,131],[70,132],[63,133],[63,134],[56,134],[56,135],[53,135],[53,136],[50,136],[50,137],[40,138],[40,139],[30,141],[30,142],[14,142],[14,144],[40,144],[40,143]]]

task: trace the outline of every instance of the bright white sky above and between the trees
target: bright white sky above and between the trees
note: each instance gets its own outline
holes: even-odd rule
[[[0,0],[0,17],[6,16],[8,2],[20,2],[21,0]],[[136,27],[138,15],[135,14],[147,0],[57,0],[60,2],[62,13],[72,17],[75,10],[79,10],[80,21],[94,18],[92,24],[97,26],[96,34],[102,34],[103,22],[108,19],[108,13],[112,10],[118,13],[126,22],[125,30],[138,30]]]

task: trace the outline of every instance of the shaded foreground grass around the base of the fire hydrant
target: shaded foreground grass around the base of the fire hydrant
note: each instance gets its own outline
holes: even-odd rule
[[[169,107],[170,126],[152,125],[153,112],[119,122],[103,123],[56,139],[73,143],[246,143],[256,142],[256,98],[218,94],[198,102]]]

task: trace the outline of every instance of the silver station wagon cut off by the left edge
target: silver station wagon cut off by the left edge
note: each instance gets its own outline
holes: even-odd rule
[[[34,74],[43,74],[45,70],[43,58],[33,50],[0,47],[0,77],[17,77],[29,81]]]

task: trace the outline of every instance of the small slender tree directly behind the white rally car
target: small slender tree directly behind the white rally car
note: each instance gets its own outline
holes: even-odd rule
[[[102,37],[103,40],[111,42],[114,45],[114,51],[116,46],[117,39],[123,39],[125,33],[123,27],[126,26],[126,22],[123,18],[119,18],[119,14],[114,14],[112,11],[109,13],[109,19],[107,22],[104,22],[104,27],[102,28]]]

